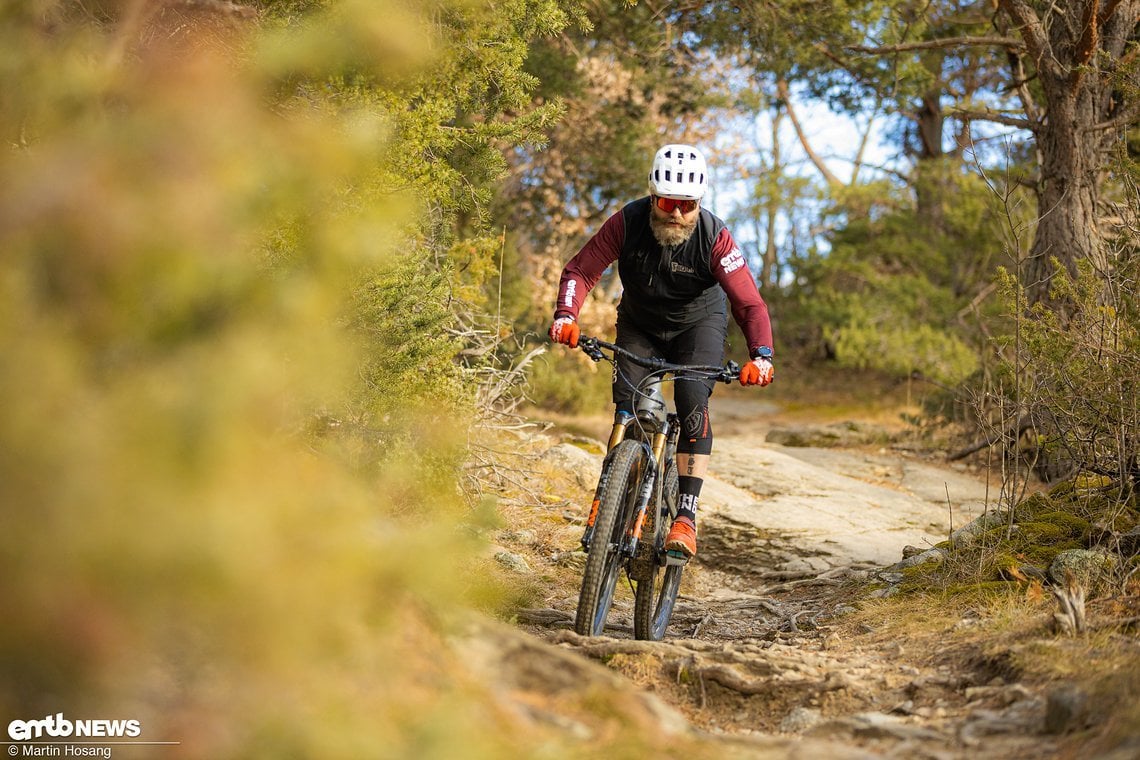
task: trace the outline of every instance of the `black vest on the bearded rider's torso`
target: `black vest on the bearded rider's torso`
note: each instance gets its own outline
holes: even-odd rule
[[[626,239],[618,256],[618,311],[651,333],[683,329],[706,319],[727,321],[724,291],[712,277],[712,245],[725,223],[701,209],[697,229],[681,245],[662,247],[650,229],[649,196],[621,210]]]

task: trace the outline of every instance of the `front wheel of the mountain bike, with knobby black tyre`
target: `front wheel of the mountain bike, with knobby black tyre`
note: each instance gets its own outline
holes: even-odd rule
[[[586,557],[586,571],[578,594],[575,630],[596,636],[605,628],[613,604],[613,589],[621,572],[621,545],[632,528],[637,493],[645,469],[645,449],[636,441],[622,441],[613,450],[609,477],[598,498],[594,538]]]

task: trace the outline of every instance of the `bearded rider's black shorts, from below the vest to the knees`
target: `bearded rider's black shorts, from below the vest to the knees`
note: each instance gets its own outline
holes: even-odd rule
[[[616,343],[632,353],[665,359],[675,365],[722,366],[727,335],[727,319],[714,317],[683,330],[661,334],[641,329],[619,310]],[[634,389],[649,373],[649,369],[618,357],[613,373],[613,402],[619,410],[633,411]],[[683,436],[705,438],[711,434],[708,400],[715,386],[712,378],[673,383],[673,400],[682,422]]]

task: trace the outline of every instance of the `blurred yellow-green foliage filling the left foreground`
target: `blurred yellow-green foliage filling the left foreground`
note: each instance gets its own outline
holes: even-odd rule
[[[377,35],[352,64],[407,65],[376,50],[418,31],[358,5],[384,27],[342,8]],[[3,725],[133,719],[181,743],[161,757],[498,755],[438,646],[490,594],[440,476],[461,449],[406,434],[450,400],[369,417],[393,389],[347,313],[406,204],[348,193],[375,124],[278,95],[283,50],[360,40],[0,7]],[[312,424],[352,410],[369,435]]]

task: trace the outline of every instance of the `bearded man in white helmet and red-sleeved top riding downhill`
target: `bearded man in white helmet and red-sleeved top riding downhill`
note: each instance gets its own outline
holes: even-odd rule
[[[578,312],[605,269],[618,262],[622,296],[616,343],[671,363],[720,365],[728,330],[725,295],[748,342],[741,385],[767,385],[774,369],[768,308],[724,221],[701,207],[708,166],[700,150],[670,144],[653,157],[649,195],[610,216],[567,263],[549,337],[577,348]],[[614,428],[634,412],[633,390],[649,369],[617,358]],[[666,549],[697,554],[697,507],[712,427],[708,401],[715,381],[678,379],[674,401],[681,418],[677,443],[679,500]],[[612,440],[612,439],[611,439]]]

